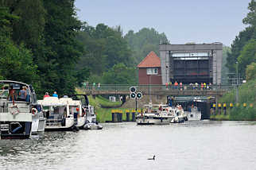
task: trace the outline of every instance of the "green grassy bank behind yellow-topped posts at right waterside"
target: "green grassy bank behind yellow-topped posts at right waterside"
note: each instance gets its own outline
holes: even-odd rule
[[[251,121],[256,120],[256,79],[242,84],[239,87],[239,102],[235,102],[235,90],[231,91],[221,99],[218,103],[227,104],[227,115],[223,115],[223,109],[220,114],[211,115],[212,120],[231,120],[231,121]],[[233,103],[231,108],[229,105]],[[244,105],[245,103],[245,105]]]

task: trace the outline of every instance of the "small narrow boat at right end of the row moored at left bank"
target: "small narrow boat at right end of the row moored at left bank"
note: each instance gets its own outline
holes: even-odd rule
[[[94,106],[83,106],[83,110],[85,110],[86,115],[86,124],[83,126],[83,129],[103,129],[103,126],[100,126],[96,120]]]

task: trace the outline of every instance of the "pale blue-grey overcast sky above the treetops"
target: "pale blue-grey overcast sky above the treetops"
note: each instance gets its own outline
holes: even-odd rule
[[[250,0],[76,0],[78,17],[95,26],[121,25],[124,33],[144,27],[165,33],[172,44],[231,45],[246,25]]]

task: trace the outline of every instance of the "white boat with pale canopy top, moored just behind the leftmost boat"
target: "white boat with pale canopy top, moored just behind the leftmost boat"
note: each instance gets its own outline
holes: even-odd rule
[[[45,130],[73,130],[76,129],[74,113],[75,106],[69,106],[72,99],[56,97],[46,97],[43,100],[37,101],[41,104],[43,112],[46,116]]]

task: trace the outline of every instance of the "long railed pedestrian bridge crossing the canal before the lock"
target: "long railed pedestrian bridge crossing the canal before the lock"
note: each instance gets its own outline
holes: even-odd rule
[[[230,85],[211,85],[208,87],[193,87],[184,85],[182,87],[165,87],[165,85],[128,85],[128,84],[103,84],[93,86],[91,84],[80,87],[86,95],[129,95],[130,87],[136,87],[143,95],[173,95],[173,96],[222,96],[227,91],[234,89]]]

